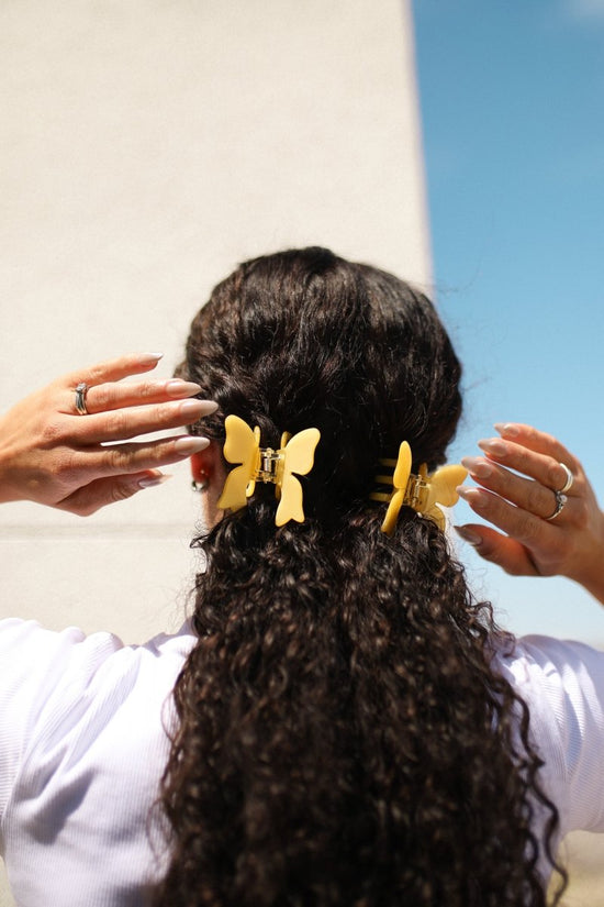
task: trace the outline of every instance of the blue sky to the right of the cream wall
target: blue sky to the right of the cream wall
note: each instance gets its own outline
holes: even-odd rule
[[[436,299],[466,366],[454,456],[529,422],[602,502],[604,0],[413,8]],[[604,608],[574,584],[463,557],[511,629],[604,644]]]

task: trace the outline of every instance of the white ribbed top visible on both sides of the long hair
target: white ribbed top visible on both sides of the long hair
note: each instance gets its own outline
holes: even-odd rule
[[[193,643],[187,626],[124,646],[0,621],[0,847],[19,907],[145,904],[166,869],[148,816],[169,696]],[[604,653],[529,637],[499,661],[530,707],[562,833],[604,831]]]

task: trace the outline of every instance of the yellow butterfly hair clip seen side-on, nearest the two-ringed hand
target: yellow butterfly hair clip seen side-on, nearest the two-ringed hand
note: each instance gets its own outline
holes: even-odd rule
[[[440,466],[432,475],[428,475],[427,466],[424,463],[420,466],[418,475],[411,472],[412,456],[411,447],[403,441],[399,447],[398,460],[380,460],[380,465],[394,468],[393,475],[376,476],[379,485],[392,485],[394,490],[390,494],[385,491],[373,491],[369,497],[371,500],[384,501],[388,510],[382,522],[382,532],[392,535],[401,507],[412,507],[422,517],[428,517],[440,528],[445,529],[445,513],[443,507],[452,507],[459,500],[457,486],[461,485],[468,475],[463,466],[450,465]],[[440,505],[440,506],[439,506]]]

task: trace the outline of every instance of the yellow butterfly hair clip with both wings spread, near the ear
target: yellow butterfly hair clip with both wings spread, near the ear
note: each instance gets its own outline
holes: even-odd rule
[[[260,447],[260,429],[254,431],[238,416],[227,416],[224,421],[226,439],[224,457],[228,463],[237,463],[228,475],[219,499],[221,510],[241,510],[254,494],[257,482],[275,484],[275,495],[279,500],[276,526],[284,526],[290,520],[304,522],[302,485],[299,476],[307,475],[314,465],[314,452],[318,444],[318,429],[304,429],[293,438],[287,432],[281,435],[281,446]]]

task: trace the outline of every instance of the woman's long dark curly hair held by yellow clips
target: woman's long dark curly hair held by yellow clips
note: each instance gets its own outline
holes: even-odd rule
[[[236,413],[262,446],[321,442],[303,523],[277,529],[262,485],[197,540],[154,903],[543,907],[558,814],[491,667],[505,640],[437,526],[403,507],[389,538],[369,500],[380,457],[404,439],[433,469],[456,430],[460,365],[430,302],[323,248],[257,258],[201,309],[179,374],[217,401],[199,427],[217,441]]]

